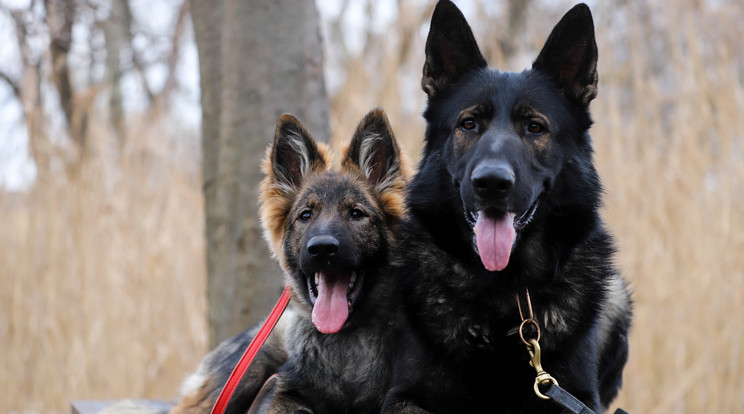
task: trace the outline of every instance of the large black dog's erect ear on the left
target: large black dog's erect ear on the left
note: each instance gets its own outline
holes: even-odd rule
[[[465,16],[449,0],[441,0],[431,17],[421,87],[429,98],[466,72],[486,67]]]

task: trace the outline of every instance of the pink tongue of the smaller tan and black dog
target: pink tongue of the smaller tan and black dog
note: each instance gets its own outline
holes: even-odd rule
[[[318,299],[313,306],[313,324],[318,331],[329,334],[341,330],[349,317],[346,296],[350,275],[327,275],[318,272]]]

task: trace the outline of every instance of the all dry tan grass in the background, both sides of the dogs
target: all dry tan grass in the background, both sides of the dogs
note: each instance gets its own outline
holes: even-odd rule
[[[744,9],[716,3],[594,10],[604,217],[635,291],[616,404],[631,413],[744,412]],[[530,11],[527,56],[569,6]],[[404,3],[396,27],[347,58],[334,141],[383,106],[417,159],[429,12]],[[485,41],[498,22],[474,27],[499,67],[528,63]],[[142,126],[113,166],[101,152],[79,179],[0,193],[0,412],[169,398],[205,351],[198,168],[169,155],[163,128]]]

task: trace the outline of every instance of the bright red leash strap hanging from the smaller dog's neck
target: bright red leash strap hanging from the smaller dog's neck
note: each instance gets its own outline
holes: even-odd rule
[[[284,309],[287,307],[288,303],[289,286],[284,288],[282,296],[279,297],[279,301],[276,303],[276,305],[274,305],[274,309],[269,314],[266,322],[264,322],[263,326],[261,326],[261,329],[258,330],[255,338],[253,338],[251,344],[248,345],[248,348],[246,348],[243,356],[240,357],[240,361],[238,361],[238,364],[235,365],[232,374],[230,374],[230,377],[227,379],[225,386],[222,388],[222,391],[220,391],[220,396],[217,397],[217,401],[214,403],[214,407],[212,407],[212,414],[222,414],[223,412],[225,412],[227,403],[230,402],[230,398],[235,392],[235,388],[238,387],[238,383],[240,383],[243,375],[245,375],[245,371],[247,371],[248,367],[251,366],[251,363],[256,358],[256,355],[258,355],[258,351],[261,349],[264,342],[266,342],[266,339],[271,334],[271,331],[274,330],[276,323],[279,322],[279,318],[282,316],[282,313],[284,313]]]

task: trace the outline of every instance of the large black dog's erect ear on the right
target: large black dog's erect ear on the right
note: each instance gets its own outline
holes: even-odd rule
[[[589,106],[597,96],[597,43],[586,4],[574,6],[555,25],[532,68],[549,73],[564,96]]]

